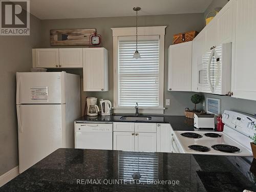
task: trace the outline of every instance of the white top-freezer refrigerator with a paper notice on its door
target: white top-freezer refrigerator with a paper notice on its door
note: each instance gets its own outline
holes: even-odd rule
[[[80,77],[66,72],[16,73],[19,173],[57,148],[74,147]]]

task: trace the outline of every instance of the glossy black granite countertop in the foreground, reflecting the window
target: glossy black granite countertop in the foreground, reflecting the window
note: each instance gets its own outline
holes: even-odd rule
[[[0,191],[256,191],[252,159],[60,148]]]

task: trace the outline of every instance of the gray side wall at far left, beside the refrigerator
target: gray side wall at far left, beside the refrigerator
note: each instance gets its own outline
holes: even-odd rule
[[[15,73],[32,67],[31,49],[40,39],[40,20],[34,16],[30,30],[30,36],[0,36],[0,175],[18,165]]]

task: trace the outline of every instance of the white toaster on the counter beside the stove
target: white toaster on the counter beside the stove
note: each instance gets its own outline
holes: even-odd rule
[[[214,114],[194,114],[194,126],[197,129],[215,129],[215,115]]]

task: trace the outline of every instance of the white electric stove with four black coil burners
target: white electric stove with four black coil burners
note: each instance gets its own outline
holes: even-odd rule
[[[256,117],[234,111],[224,111],[223,132],[174,131],[171,148],[173,153],[252,156],[250,137],[255,133]]]

